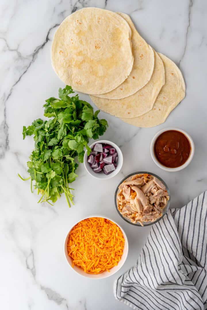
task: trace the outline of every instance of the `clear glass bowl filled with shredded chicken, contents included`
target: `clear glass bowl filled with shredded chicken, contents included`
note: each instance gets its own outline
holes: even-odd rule
[[[166,214],[170,204],[167,184],[154,173],[140,171],[126,176],[115,192],[115,206],[128,223],[148,226]]]

